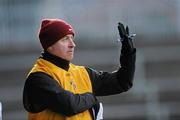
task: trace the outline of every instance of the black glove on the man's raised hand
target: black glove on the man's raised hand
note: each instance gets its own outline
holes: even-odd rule
[[[121,53],[123,53],[123,54],[133,53],[133,51],[134,51],[133,42],[132,42],[133,36],[129,36],[128,26],[126,26],[126,29],[125,29],[124,25],[119,22],[118,30],[119,30],[119,35],[121,38],[121,43],[122,43]]]

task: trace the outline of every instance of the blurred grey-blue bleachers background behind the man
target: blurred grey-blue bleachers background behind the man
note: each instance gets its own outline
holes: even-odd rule
[[[0,0],[0,101],[3,120],[26,120],[25,77],[42,48],[43,18],[75,29],[73,63],[114,71],[121,44],[117,23],[137,36],[133,88],[99,97],[106,120],[180,120],[180,0]]]

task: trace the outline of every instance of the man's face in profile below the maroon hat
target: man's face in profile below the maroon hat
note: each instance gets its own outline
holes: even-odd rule
[[[55,44],[51,45],[47,51],[55,56],[71,61],[74,56],[74,36],[71,34],[61,38]]]

